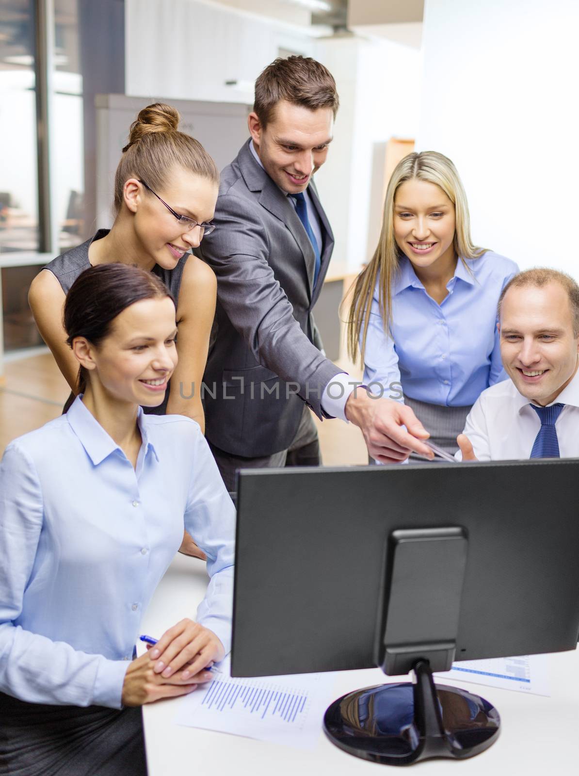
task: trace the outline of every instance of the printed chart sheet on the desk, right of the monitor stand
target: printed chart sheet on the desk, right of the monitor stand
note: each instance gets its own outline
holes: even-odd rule
[[[501,690],[530,692],[533,695],[550,696],[549,656],[520,655],[517,657],[494,657],[491,660],[462,660],[452,663],[439,679],[462,679],[474,684],[486,684]]]

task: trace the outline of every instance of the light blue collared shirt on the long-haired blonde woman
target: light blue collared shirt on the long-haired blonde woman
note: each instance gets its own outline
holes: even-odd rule
[[[428,296],[411,262],[400,259],[392,293],[392,326],[385,333],[378,286],[368,324],[364,383],[373,393],[429,404],[466,407],[506,378],[497,332],[497,302],[518,266],[492,251],[457,262],[439,304]]]

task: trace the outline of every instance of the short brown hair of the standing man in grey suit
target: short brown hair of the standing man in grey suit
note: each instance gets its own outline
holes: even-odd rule
[[[331,108],[338,113],[340,100],[333,75],[311,57],[278,58],[255,81],[253,109],[262,127],[272,120],[273,109],[285,99],[310,110]]]

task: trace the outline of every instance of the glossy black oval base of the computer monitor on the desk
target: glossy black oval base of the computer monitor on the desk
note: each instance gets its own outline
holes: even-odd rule
[[[332,743],[383,765],[473,757],[491,747],[500,726],[497,709],[480,695],[434,684],[428,660],[414,665],[412,683],[350,692],[324,715],[324,732]]]

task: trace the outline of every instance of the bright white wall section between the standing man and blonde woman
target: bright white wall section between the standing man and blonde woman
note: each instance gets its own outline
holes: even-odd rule
[[[318,41],[316,56],[340,95],[335,140],[316,183],[335,234],[335,262],[357,271],[380,233],[382,186],[373,178],[382,179],[383,146],[418,131],[420,54],[390,41],[336,37]]]

